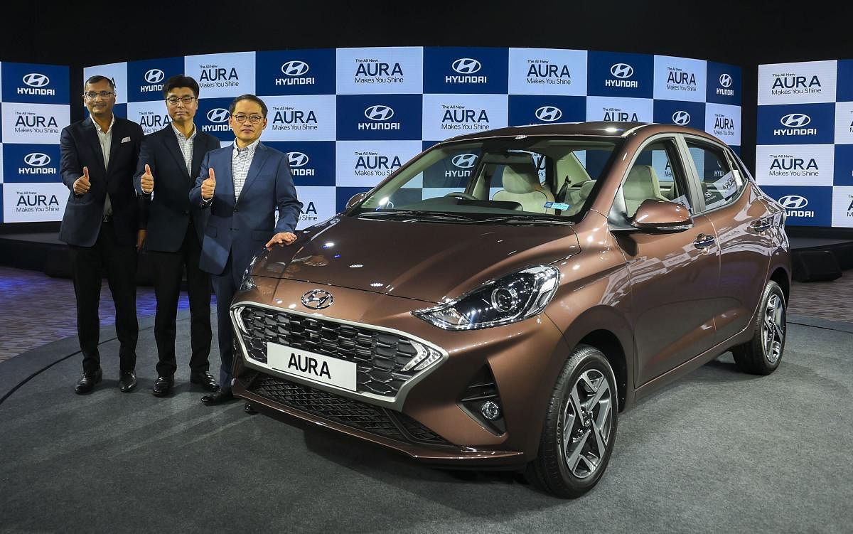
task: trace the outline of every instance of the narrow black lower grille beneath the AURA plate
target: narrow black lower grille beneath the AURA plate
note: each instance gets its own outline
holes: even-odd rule
[[[249,392],[345,425],[397,441],[449,445],[441,436],[408,415],[351,398],[322,392],[269,374],[258,373]]]

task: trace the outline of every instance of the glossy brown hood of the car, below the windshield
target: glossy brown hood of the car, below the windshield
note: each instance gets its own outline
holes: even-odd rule
[[[580,251],[566,224],[419,223],[335,217],[297,232],[252,276],[351,287],[437,303],[483,282]]]

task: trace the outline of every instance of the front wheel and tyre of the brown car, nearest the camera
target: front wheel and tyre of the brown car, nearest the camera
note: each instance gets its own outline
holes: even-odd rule
[[[601,479],[618,425],[616,378],[604,354],[578,345],[554,386],[531,482],[555,496],[582,496]]]

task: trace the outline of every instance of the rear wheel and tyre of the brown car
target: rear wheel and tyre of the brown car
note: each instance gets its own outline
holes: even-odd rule
[[[752,339],[732,349],[734,362],[750,374],[770,374],[779,367],[786,336],[785,294],[772,280],[764,287]]]

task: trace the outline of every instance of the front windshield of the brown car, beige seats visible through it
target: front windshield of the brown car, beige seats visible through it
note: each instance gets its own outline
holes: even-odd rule
[[[440,143],[349,214],[440,222],[573,223],[583,217],[616,142],[502,137]]]

